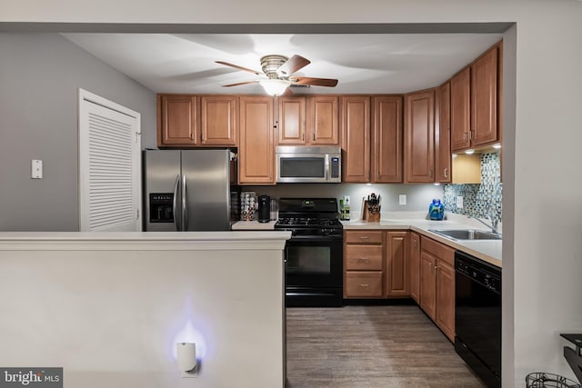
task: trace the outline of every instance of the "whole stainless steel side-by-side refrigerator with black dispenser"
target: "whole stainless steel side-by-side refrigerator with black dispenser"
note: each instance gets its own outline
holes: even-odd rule
[[[147,232],[231,229],[231,196],[237,195],[229,150],[146,150],[143,156]]]

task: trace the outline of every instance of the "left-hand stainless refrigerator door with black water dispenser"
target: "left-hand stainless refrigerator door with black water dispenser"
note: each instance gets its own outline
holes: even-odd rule
[[[146,232],[176,232],[180,223],[180,151],[144,151],[144,204]],[[177,193],[176,193],[177,192]]]

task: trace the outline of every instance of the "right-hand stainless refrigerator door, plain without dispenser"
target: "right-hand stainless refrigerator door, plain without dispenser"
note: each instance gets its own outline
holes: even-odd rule
[[[187,231],[230,229],[230,152],[183,150]]]

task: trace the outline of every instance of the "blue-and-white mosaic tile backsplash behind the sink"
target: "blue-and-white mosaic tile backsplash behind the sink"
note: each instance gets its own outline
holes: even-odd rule
[[[501,160],[500,154],[481,154],[481,184],[446,184],[444,204],[447,212],[501,221]],[[457,208],[457,196],[463,197],[463,208]]]

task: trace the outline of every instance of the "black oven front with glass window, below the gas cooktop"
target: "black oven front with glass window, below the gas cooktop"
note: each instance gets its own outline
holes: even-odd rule
[[[343,243],[337,237],[292,237],[285,248],[287,306],[340,306]]]

